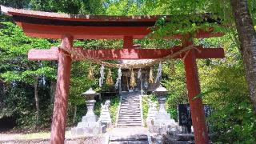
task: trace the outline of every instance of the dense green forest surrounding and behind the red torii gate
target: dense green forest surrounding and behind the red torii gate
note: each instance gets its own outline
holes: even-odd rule
[[[135,40],[143,47],[168,48],[180,44],[179,40],[164,40],[162,36],[193,33],[205,26],[225,33],[221,38],[194,39],[196,45],[225,49],[224,59],[198,60],[203,102],[214,109],[207,118],[214,141],[224,143],[256,142],[256,115],[250,102],[245,70],[240,54],[237,31],[229,1],[221,0],[0,0],[0,4],[28,10],[43,10],[69,14],[140,15],[171,14],[172,22],[160,19],[152,37]],[[256,2],[248,1],[251,17],[256,25]],[[194,21],[197,14],[210,13],[218,23]],[[190,15],[190,17],[187,17]],[[31,62],[27,51],[31,48],[49,49],[60,41],[28,38],[13,20],[0,15],[0,119],[14,119],[15,128],[22,130],[50,129],[56,85],[57,62]],[[75,46],[86,49],[121,47],[120,40],[79,40]],[[87,78],[88,68],[94,67],[95,79]],[[157,67],[157,66],[156,66]],[[116,70],[114,71],[114,79]],[[156,72],[156,71],[155,71]],[[69,98],[68,126],[74,126],[85,114],[85,101],[81,93],[91,86],[98,87],[99,66],[90,62],[73,62]],[[182,60],[163,63],[162,85],[168,94],[166,108],[177,119],[177,105],[187,103],[185,73]],[[107,89],[108,86],[103,86]],[[117,102],[115,99],[114,102]],[[1,127],[1,126],[0,126]]]

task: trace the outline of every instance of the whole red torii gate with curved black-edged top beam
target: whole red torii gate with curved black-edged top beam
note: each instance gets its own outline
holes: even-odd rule
[[[160,16],[96,16],[57,14],[34,10],[17,10],[1,6],[2,12],[14,18],[18,26],[22,27],[24,33],[34,38],[61,38],[61,46],[73,51],[80,52],[88,58],[97,59],[148,59],[162,58],[171,52],[181,50],[183,47],[192,44],[190,37],[182,40],[182,46],[174,46],[171,49],[136,49],[133,46],[133,39],[144,38],[150,34],[149,27]],[[207,20],[213,21],[208,15],[203,15]],[[170,21],[171,17],[166,16]],[[214,34],[213,30],[199,30],[194,38],[210,38],[222,36]],[[188,34],[189,35],[189,34]],[[171,38],[182,38],[182,35],[174,35]],[[123,39],[122,50],[81,50],[73,47],[74,39]],[[205,122],[205,115],[202,106],[202,99],[194,96],[200,94],[198,81],[198,67],[196,58],[224,58],[222,48],[191,49],[184,59],[186,70],[186,87],[189,95],[190,110],[194,126],[194,139],[196,143],[209,143]],[[200,51],[200,52],[199,52]],[[183,58],[184,53],[176,58]],[[51,126],[51,143],[64,143],[66,130],[67,102],[70,90],[70,69],[72,57],[58,47],[50,50],[30,50],[30,60],[58,61],[58,78],[54,101],[54,114]]]

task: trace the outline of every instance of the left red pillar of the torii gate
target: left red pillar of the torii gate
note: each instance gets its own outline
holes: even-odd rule
[[[63,36],[62,47],[72,48],[73,37]],[[58,54],[58,78],[54,100],[54,114],[51,125],[50,143],[64,143],[66,131],[67,103],[70,91],[70,54],[59,50]]]

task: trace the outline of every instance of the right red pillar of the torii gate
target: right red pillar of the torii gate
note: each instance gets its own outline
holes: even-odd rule
[[[188,40],[182,43],[183,46],[189,46],[190,44],[192,44],[192,42]],[[196,144],[207,144],[209,143],[209,138],[202,105],[202,98],[193,99],[201,92],[198,79],[198,66],[196,63],[194,49],[188,51],[184,64],[186,71],[186,88],[189,95],[192,124],[194,128],[194,142]]]

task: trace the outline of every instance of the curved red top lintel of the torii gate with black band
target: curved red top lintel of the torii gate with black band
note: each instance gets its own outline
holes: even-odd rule
[[[134,39],[144,38],[150,34],[158,18],[170,15],[136,15],[136,16],[107,16],[89,14],[60,14],[36,10],[14,9],[1,6],[1,11],[10,15],[24,33],[35,38],[62,38],[70,34],[75,39],[118,39],[132,36]],[[216,22],[210,14],[202,14],[207,22]],[[199,31],[197,38],[220,36],[211,32]],[[176,35],[173,38],[181,38]]]

